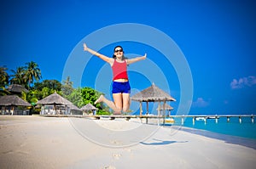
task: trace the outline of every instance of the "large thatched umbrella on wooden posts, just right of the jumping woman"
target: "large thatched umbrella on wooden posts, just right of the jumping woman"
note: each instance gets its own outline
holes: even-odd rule
[[[148,102],[160,102],[163,101],[164,104],[166,104],[166,101],[176,101],[176,99],[173,99],[172,96],[170,96],[165,91],[161,90],[159,87],[156,87],[154,83],[151,87],[148,87],[144,89],[142,92],[137,93],[131,97],[131,100],[139,101],[140,102],[140,115],[142,115],[142,102],[147,102],[147,114],[148,114]],[[160,109],[158,112],[158,115],[160,115]]]

